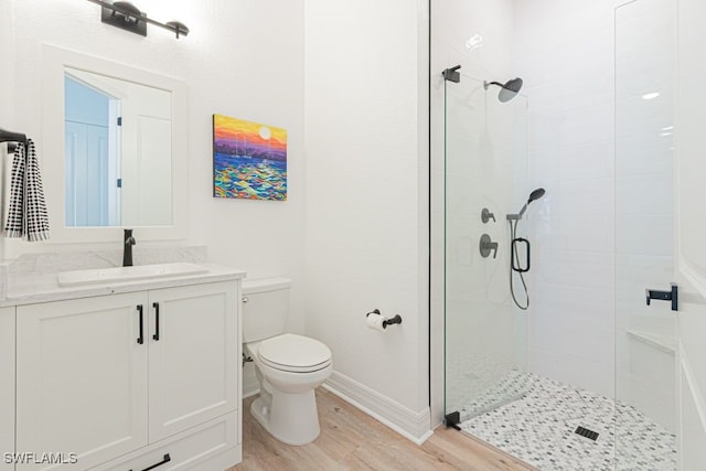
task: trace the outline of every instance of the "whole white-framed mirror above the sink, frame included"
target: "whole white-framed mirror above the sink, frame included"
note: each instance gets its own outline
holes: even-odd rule
[[[42,83],[52,239],[185,238],[186,85],[50,45]]]

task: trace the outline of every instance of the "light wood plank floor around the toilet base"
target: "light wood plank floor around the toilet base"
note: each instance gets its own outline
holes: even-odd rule
[[[255,396],[257,397],[257,396]],[[309,445],[277,441],[243,404],[243,462],[227,471],[527,471],[535,470],[460,431],[438,428],[421,447],[391,430],[334,394],[317,389],[321,435]]]

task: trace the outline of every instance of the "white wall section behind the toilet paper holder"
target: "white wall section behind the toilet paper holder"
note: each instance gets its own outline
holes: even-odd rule
[[[414,439],[429,430],[427,21],[425,1],[306,1],[307,333],[333,352],[333,387]],[[375,308],[403,324],[367,329]]]

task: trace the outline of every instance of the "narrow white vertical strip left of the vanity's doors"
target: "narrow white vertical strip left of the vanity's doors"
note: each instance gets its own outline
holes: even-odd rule
[[[0,470],[14,469],[14,308],[0,308]],[[8,459],[10,458],[10,459]],[[10,461],[10,462],[8,462]]]

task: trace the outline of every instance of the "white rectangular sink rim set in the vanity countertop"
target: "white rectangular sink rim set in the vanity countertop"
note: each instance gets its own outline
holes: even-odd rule
[[[121,282],[205,274],[207,271],[208,269],[206,267],[185,261],[160,265],[137,265],[135,267],[95,268],[90,270],[62,271],[58,274],[58,285],[77,286],[105,283],[108,281]]]

